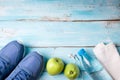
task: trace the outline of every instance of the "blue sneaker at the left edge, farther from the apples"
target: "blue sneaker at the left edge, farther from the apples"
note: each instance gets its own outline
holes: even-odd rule
[[[8,43],[0,51],[0,80],[4,80],[22,59],[24,46],[17,41]]]

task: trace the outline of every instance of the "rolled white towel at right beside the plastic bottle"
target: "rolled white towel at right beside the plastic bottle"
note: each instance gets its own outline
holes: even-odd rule
[[[103,64],[114,80],[120,80],[120,55],[113,43],[98,44],[93,49],[95,56]]]

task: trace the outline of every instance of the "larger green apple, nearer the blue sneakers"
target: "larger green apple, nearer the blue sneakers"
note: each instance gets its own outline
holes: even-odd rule
[[[47,62],[46,69],[50,75],[57,75],[63,71],[64,63],[60,58],[51,58]]]

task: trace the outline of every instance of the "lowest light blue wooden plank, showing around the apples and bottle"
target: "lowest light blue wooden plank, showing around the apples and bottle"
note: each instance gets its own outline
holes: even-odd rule
[[[90,55],[94,56],[94,53],[93,53],[93,48],[86,48],[86,47],[78,47],[78,48],[30,48],[29,49],[29,52],[31,51],[38,51],[40,52],[41,55],[44,56],[44,58],[51,58],[51,57],[59,57],[61,58],[64,63],[75,63],[79,66],[79,63],[73,59],[73,58],[70,58],[69,55],[70,54],[77,54],[77,52],[81,49],[81,48],[84,48],[87,53],[89,53]],[[120,47],[117,47],[119,53],[120,53]],[[47,55],[46,55],[47,54]],[[51,55],[50,55],[51,54]],[[105,72],[105,70],[102,71],[105,75],[107,74]],[[101,73],[102,73],[101,72]],[[43,74],[40,76],[39,80],[68,80],[64,74],[60,74],[60,75],[56,75],[56,76],[50,76],[46,71],[43,72]],[[82,80],[81,77],[78,77],[76,80]]]

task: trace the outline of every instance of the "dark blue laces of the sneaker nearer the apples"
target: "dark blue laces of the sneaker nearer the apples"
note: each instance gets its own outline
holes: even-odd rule
[[[29,80],[29,79],[30,79],[30,74],[28,74],[24,70],[21,70],[12,80]]]

